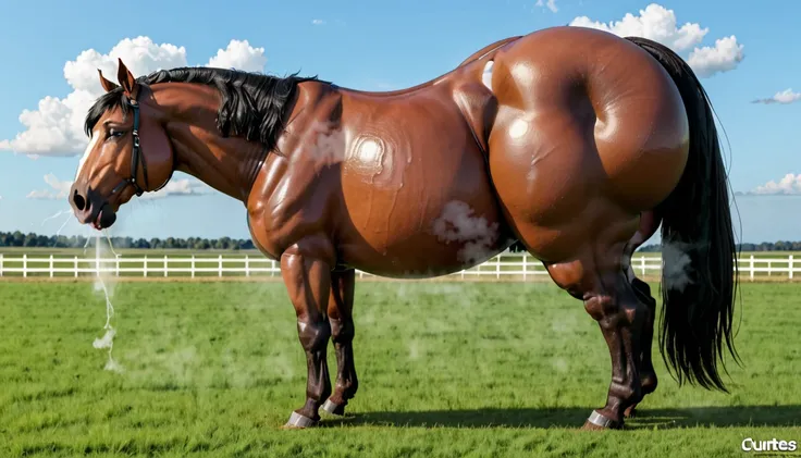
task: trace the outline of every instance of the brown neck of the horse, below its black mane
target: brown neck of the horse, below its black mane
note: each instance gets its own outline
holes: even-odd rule
[[[176,170],[193,175],[235,199],[245,201],[264,159],[264,147],[237,137],[222,137],[217,128],[220,102],[214,88],[196,84],[165,84],[157,100],[168,112],[168,135]]]

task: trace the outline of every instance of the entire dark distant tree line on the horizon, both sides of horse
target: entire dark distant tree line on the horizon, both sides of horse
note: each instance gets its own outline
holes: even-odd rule
[[[0,232],[0,247],[41,247],[41,248],[83,248],[86,246],[87,238],[78,235],[66,237],[64,235],[39,235],[34,233],[23,234],[16,232]],[[193,250],[246,250],[254,249],[252,240],[236,239],[231,237],[222,238],[132,238],[132,237],[111,237],[114,248],[140,248],[140,249],[193,249]],[[741,251],[801,251],[801,242],[763,242],[761,244],[740,244]],[[522,248],[519,243],[510,247],[513,252],[518,252]],[[658,252],[662,251],[662,245],[645,245],[640,247],[638,251]]]

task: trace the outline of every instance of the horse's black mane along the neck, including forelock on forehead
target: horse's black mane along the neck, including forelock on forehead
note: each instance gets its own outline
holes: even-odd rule
[[[287,77],[210,67],[180,67],[160,70],[137,78],[140,84],[196,83],[215,87],[222,102],[218,110],[217,127],[223,136],[239,136],[261,143],[267,151],[275,148],[283,132],[284,110],[292,100],[298,83],[317,77]],[[84,129],[91,132],[100,117],[114,108],[128,111],[122,88],[102,95],[86,114]]]

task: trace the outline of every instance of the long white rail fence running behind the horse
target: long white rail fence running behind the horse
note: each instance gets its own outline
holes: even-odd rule
[[[768,280],[767,277],[799,278],[801,265],[792,255],[771,258],[761,256],[738,259],[741,278]],[[662,271],[658,255],[638,255],[632,268],[641,276],[656,276]],[[0,277],[78,277],[88,275],[124,277],[223,277],[223,276],[280,276],[279,263],[259,256],[247,255],[186,255],[186,256],[116,256],[94,259],[78,256],[28,256],[0,253]],[[360,277],[370,274],[357,271]],[[448,277],[531,280],[547,275],[539,260],[528,253],[503,253],[472,269],[453,273]]]

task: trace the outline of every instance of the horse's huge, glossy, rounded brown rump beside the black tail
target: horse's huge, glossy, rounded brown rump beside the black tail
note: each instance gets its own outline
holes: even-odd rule
[[[665,70],[607,33],[556,27],[493,55],[490,169],[510,224],[545,260],[627,240],[678,183],[689,126]]]

